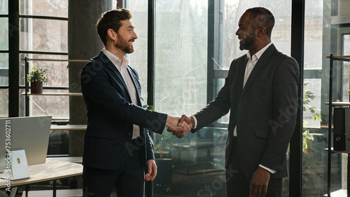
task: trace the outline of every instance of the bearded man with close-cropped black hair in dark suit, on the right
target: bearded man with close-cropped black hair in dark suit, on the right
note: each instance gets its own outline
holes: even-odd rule
[[[248,53],[232,61],[214,101],[190,117],[183,115],[179,124],[191,124],[194,133],[230,110],[227,196],[281,196],[287,175],[286,150],[295,129],[300,73],[295,59],[271,43],[273,27],[274,15],[266,8],[246,10],[236,35],[239,49]]]

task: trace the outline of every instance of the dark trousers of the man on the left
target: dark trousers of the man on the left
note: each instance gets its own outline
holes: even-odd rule
[[[144,166],[139,150],[128,156],[123,168],[104,170],[84,166],[83,196],[109,197],[116,187],[118,197],[144,196]]]

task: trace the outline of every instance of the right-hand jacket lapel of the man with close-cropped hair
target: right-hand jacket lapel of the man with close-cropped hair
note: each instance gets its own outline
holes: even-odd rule
[[[251,75],[249,75],[248,80],[246,81],[246,85],[244,86],[243,92],[241,95],[243,95],[247,89],[251,86],[251,83],[253,82],[253,80],[256,78],[256,76],[258,75],[258,73],[261,71],[262,68],[264,68],[264,66],[267,64],[267,62],[269,61],[268,58],[272,55],[272,53],[276,50],[276,48],[274,47],[274,45],[270,45],[269,48],[267,48],[267,50],[265,50],[265,52],[261,55],[261,57],[259,58],[258,62],[255,64],[253,71],[251,71]],[[243,74],[243,78],[244,78],[244,74]]]

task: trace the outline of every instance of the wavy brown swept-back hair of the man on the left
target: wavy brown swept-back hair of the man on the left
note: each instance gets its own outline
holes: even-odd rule
[[[127,9],[109,10],[102,13],[96,24],[97,34],[99,34],[99,38],[101,38],[102,43],[106,45],[107,30],[113,29],[118,33],[119,28],[122,27],[122,23],[120,21],[130,20],[131,18],[132,13]]]

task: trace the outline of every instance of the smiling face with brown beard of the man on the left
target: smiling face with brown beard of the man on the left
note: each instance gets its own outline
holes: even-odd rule
[[[134,52],[134,41],[137,35],[134,31],[134,25],[131,20],[122,20],[122,27],[118,30],[117,39],[114,41],[116,48],[123,50],[125,53]]]

